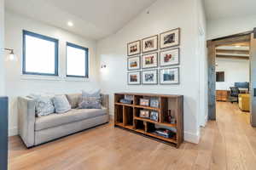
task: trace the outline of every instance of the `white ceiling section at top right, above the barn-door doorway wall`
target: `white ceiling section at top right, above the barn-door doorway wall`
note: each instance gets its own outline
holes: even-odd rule
[[[256,15],[256,0],[204,0],[207,20]]]

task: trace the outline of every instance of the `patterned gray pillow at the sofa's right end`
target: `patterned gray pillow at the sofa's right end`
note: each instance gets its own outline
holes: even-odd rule
[[[79,103],[79,109],[102,109],[101,98],[83,98],[81,103]]]

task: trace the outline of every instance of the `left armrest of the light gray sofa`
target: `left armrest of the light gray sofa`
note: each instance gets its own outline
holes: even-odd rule
[[[18,127],[20,138],[26,147],[34,145],[36,102],[26,97],[18,98]]]

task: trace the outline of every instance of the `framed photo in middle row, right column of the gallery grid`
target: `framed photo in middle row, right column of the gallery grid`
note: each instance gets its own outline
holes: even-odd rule
[[[179,48],[160,52],[160,66],[179,65]]]

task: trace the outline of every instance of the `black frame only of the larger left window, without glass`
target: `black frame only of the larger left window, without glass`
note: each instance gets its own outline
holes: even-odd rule
[[[23,34],[23,59],[22,59],[22,74],[23,75],[39,75],[39,76],[59,76],[59,40],[53,37],[44,36],[32,31],[22,31]],[[29,72],[26,71],[26,36],[37,37],[49,42],[55,42],[55,73]]]

